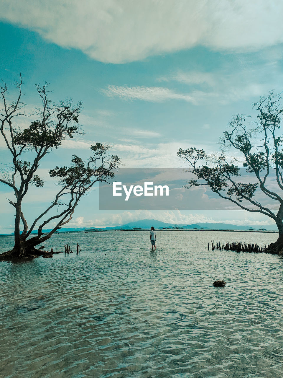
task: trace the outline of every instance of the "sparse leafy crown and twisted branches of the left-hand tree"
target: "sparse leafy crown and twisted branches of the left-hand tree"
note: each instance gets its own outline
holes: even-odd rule
[[[36,85],[42,106],[31,114],[24,112],[22,102],[22,77],[14,83],[18,90],[14,101],[8,102],[8,87],[1,88],[3,109],[0,111],[0,132],[6,147],[11,153],[11,161],[2,169],[0,182],[13,189],[15,200],[9,203],[15,209],[15,247],[13,251],[20,251],[23,245],[35,246],[47,240],[62,225],[68,223],[78,201],[88,194],[91,187],[98,181],[108,182],[114,176],[120,160],[117,155],[109,154],[110,146],[96,143],[90,146],[91,155],[86,161],[73,155],[71,165],[56,166],[49,170],[49,175],[57,179],[60,189],[53,202],[45,211],[35,218],[29,227],[22,212],[22,202],[28,193],[30,185],[42,187],[44,181],[37,174],[41,160],[58,149],[65,138],[82,135],[83,131],[78,123],[78,116],[82,103],[74,104],[71,99],[65,99],[58,104],[49,98],[48,84],[40,87]],[[19,127],[23,117],[33,120],[28,127]],[[50,222],[55,222],[47,235],[43,228]],[[38,228],[37,234],[32,234]],[[31,237],[32,236],[32,237]]]

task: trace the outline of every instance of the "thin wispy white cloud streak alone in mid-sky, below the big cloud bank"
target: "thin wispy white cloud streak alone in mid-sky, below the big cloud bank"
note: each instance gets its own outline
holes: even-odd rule
[[[162,87],[117,87],[108,85],[103,93],[109,97],[120,97],[125,100],[143,100],[152,102],[163,102],[166,100],[184,100],[195,102],[194,98],[189,95],[175,93],[169,88]]]

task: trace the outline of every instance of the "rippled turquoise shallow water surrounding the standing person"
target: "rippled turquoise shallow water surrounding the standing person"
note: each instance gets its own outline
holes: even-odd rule
[[[1,262],[0,376],[283,377],[282,257],[211,239],[277,235],[157,231],[152,253],[149,231],[55,234],[81,253]]]

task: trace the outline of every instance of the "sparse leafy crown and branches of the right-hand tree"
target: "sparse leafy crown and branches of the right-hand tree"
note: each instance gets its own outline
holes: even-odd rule
[[[189,163],[196,179],[186,187],[208,185],[212,192],[249,212],[272,218],[283,233],[283,137],[280,121],[281,95],[269,92],[254,104],[255,122],[243,115],[235,116],[220,138],[221,151],[208,155],[203,149],[179,149],[178,156]],[[231,158],[231,155],[236,157]],[[244,167],[252,182],[241,177]],[[260,195],[259,195],[260,194]],[[264,205],[260,198],[277,201],[278,212]]]

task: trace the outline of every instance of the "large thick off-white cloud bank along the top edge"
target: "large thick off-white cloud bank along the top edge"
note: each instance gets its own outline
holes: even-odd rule
[[[276,0],[3,0],[1,17],[93,59],[123,63],[195,45],[229,51],[275,45],[283,42],[282,13]]]

